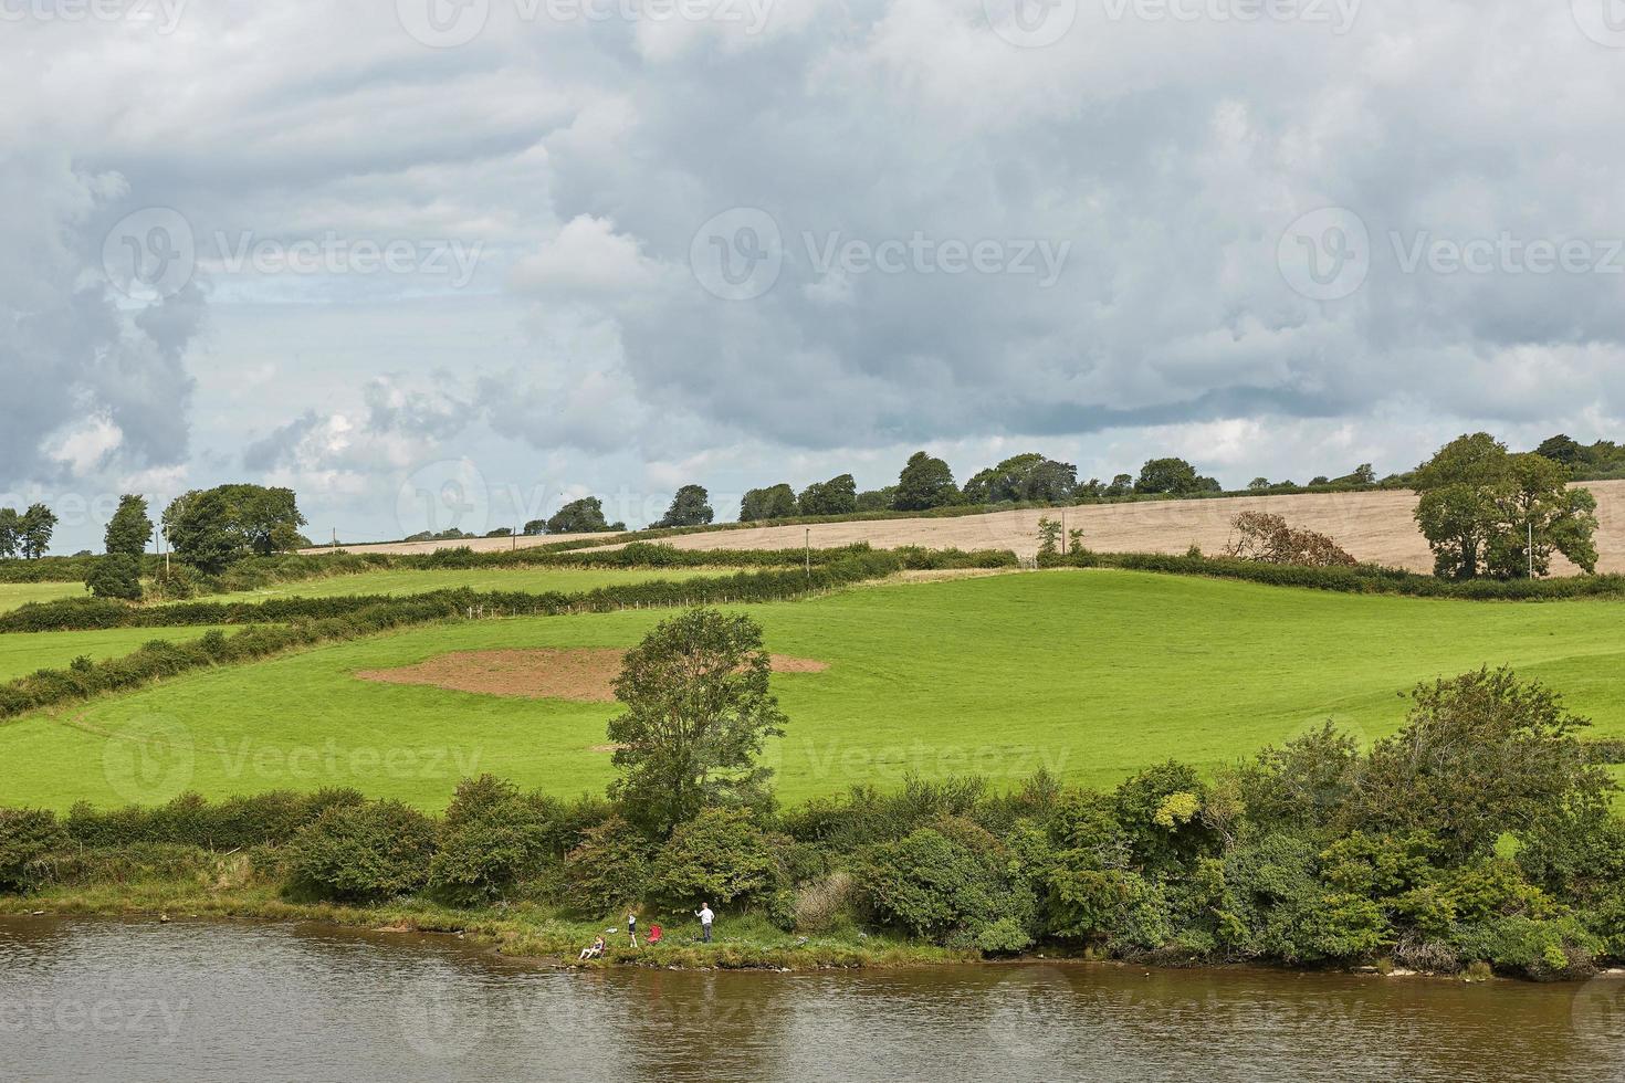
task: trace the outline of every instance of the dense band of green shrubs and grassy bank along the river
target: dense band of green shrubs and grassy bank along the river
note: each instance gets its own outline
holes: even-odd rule
[[[665,924],[678,964],[1045,951],[1583,977],[1625,958],[1625,823],[1584,723],[1480,671],[1419,687],[1360,750],[1313,731],[1209,778],[1110,792],[910,779],[791,809],[712,805],[645,835],[609,800],[465,781],[444,817],[351,791],[67,817],[0,812],[8,909],[328,916],[564,955]],[[691,943],[710,901],[722,942]],[[611,938],[611,947],[624,940]]]

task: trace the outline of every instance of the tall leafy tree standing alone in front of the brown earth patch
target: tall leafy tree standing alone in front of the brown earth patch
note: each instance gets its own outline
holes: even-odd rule
[[[639,826],[670,835],[710,805],[767,800],[769,768],[756,757],[783,734],[769,692],[762,628],[744,615],[692,609],[627,651],[609,721],[621,770],[609,796]]]

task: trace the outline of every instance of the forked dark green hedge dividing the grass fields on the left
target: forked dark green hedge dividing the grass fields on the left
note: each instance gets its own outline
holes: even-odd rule
[[[75,599],[65,606],[58,602],[26,606],[6,614],[0,622],[0,632],[143,627],[143,622],[151,619],[166,619],[169,625],[249,623],[250,627],[232,636],[218,628],[210,630],[190,643],[153,640],[124,658],[99,662],[81,658],[67,669],[41,669],[0,685],[0,718],[13,718],[102,692],[135,688],[190,669],[254,661],[294,646],[348,640],[432,620],[606,612],[644,606],[764,602],[881,578],[902,567],[895,554],[873,552],[811,572],[767,570],[681,583],[656,580],[578,594],[437,591],[406,598],[288,598],[258,606],[193,602],[141,609],[104,599]]]

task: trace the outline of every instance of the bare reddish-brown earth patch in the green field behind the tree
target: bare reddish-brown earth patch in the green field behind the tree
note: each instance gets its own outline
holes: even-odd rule
[[[361,680],[398,685],[432,685],[452,692],[512,695],[531,700],[614,701],[621,675],[616,648],[538,648],[525,651],[455,651],[398,669],[362,669]],[[827,662],[772,654],[774,672],[816,674]]]

